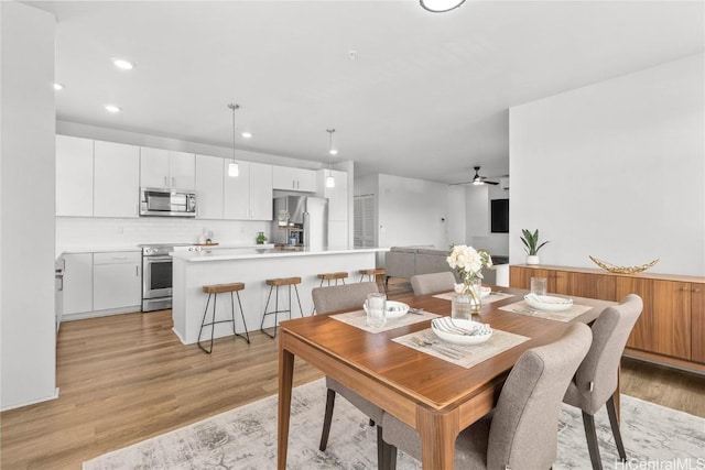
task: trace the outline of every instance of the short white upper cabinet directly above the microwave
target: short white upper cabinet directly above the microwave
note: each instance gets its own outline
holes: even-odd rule
[[[196,157],[193,153],[140,147],[142,187],[195,189]]]

